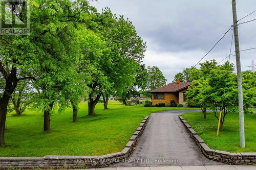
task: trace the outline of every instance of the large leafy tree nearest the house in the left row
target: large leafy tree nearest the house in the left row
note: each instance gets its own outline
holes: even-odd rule
[[[102,90],[104,109],[107,109],[110,95],[121,96],[134,85],[146,45],[137,34],[132,22],[124,16],[117,17],[106,8],[100,18],[105,21],[101,27],[101,34],[111,50],[112,58],[112,67],[107,72],[113,86],[110,91]]]

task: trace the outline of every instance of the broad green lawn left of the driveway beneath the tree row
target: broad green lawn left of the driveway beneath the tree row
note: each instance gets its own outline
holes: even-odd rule
[[[142,119],[155,111],[191,108],[124,106],[110,102],[108,110],[97,104],[97,116],[87,116],[81,104],[78,122],[72,123],[72,109],[51,116],[51,133],[44,133],[42,113],[27,110],[21,116],[8,114],[6,147],[0,157],[42,157],[45,155],[102,155],[122,151]]]

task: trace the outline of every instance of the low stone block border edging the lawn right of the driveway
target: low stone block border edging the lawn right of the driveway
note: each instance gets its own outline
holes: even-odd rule
[[[186,120],[182,116],[179,116],[179,118],[206,158],[234,165],[250,165],[256,163],[256,153],[229,153],[210,149]]]

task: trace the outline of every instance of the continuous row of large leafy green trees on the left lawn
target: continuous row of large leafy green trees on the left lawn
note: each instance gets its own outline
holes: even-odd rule
[[[26,10],[10,12],[25,20]],[[60,110],[72,105],[75,122],[82,97],[89,94],[93,115],[101,95],[134,86],[146,48],[129,19],[109,8],[98,13],[86,0],[30,1],[30,34],[1,36],[0,46],[0,145],[11,96],[15,106],[26,98],[16,99],[16,91],[24,90],[19,87],[26,87],[22,82],[33,80],[33,108],[44,112],[49,131],[54,104]]]

